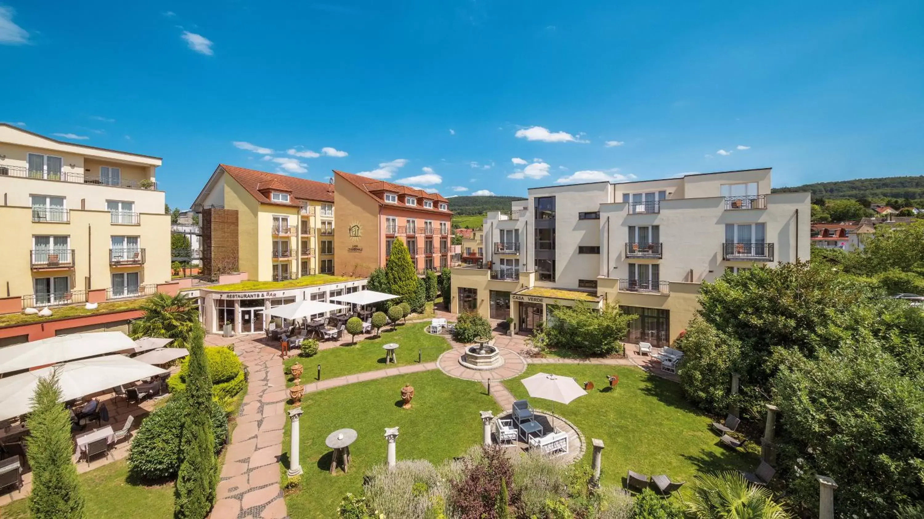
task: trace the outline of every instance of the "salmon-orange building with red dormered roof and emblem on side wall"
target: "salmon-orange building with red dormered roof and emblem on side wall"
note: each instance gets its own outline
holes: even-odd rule
[[[334,273],[366,276],[402,240],[417,271],[450,266],[453,213],[437,193],[334,170]],[[346,232],[344,232],[346,231]]]

